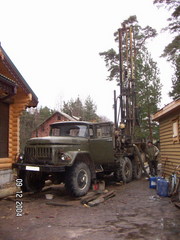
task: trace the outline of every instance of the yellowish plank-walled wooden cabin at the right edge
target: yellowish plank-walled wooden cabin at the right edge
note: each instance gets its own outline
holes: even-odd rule
[[[159,122],[162,171],[169,176],[180,165],[180,98],[153,115]],[[180,166],[176,169],[180,176]]]

